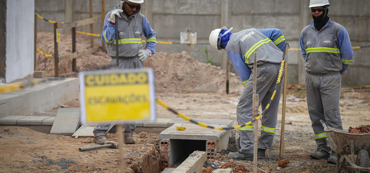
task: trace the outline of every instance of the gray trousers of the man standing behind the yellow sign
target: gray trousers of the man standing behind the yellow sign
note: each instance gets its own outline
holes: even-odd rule
[[[119,60],[120,64],[120,69],[133,69],[133,68],[143,68],[143,62],[139,59],[139,57],[135,58],[120,58]],[[112,60],[109,62],[109,69],[114,69],[117,65],[117,60],[112,58]],[[124,112],[122,112],[124,113]],[[109,130],[111,126],[111,123],[108,124],[98,124],[94,130],[94,136],[99,136],[99,135],[105,135],[105,133]],[[124,135],[129,135],[132,136],[135,128],[136,128],[136,123],[125,123],[124,124],[125,129],[124,129]]]

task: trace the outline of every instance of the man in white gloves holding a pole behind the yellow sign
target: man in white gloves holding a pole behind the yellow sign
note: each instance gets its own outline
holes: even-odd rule
[[[151,57],[155,52],[157,43],[155,31],[152,30],[147,18],[140,13],[141,3],[144,0],[121,0],[121,3],[114,7],[112,11],[105,16],[105,22],[101,39],[106,44],[107,53],[112,57],[109,62],[109,68],[114,69],[117,65],[116,44],[118,43],[119,67],[121,69],[143,68],[143,61]],[[118,16],[118,38],[115,40],[115,16]],[[146,45],[142,50],[141,35],[146,37]],[[125,112],[122,112],[124,114]],[[94,142],[104,143],[109,140],[105,133],[109,130],[111,124],[98,124],[94,128]],[[135,129],[135,123],[124,124],[124,142],[134,144],[132,138]]]

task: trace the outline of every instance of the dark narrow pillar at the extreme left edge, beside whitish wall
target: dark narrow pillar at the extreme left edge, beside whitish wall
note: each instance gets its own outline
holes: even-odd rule
[[[5,51],[6,51],[6,0],[0,0],[0,78],[4,79],[6,69]]]

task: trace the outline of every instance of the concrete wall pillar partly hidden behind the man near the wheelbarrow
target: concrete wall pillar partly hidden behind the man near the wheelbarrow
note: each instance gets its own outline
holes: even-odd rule
[[[301,6],[300,6],[300,31],[303,30],[307,25],[309,25],[310,21],[309,15],[310,15],[310,8],[308,7],[310,4],[309,0],[301,0]],[[303,60],[302,55],[299,53],[298,56],[298,84],[305,84],[305,60]]]

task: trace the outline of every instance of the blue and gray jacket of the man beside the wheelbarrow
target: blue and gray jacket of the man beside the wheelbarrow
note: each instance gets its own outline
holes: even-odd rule
[[[330,18],[320,31],[316,30],[313,22],[303,28],[300,49],[306,71],[313,74],[343,74],[353,60],[353,49],[346,28]]]

